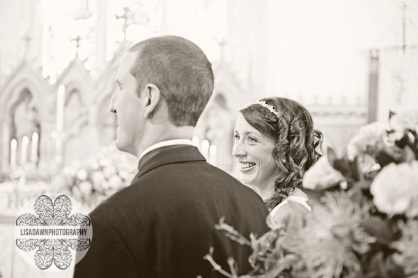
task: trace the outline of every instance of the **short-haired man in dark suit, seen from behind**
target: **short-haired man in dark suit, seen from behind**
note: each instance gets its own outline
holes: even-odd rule
[[[262,235],[268,211],[261,198],[192,146],[196,121],[213,89],[212,67],[185,38],[162,36],[133,45],[121,60],[111,111],[116,147],[139,158],[132,184],[91,213],[93,240],[75,277],[222,277],[213,257],[239,274],[251,249],[215,229],[219,218],[240,233]]]

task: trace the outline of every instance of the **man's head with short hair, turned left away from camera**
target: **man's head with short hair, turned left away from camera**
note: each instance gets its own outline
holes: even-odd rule
[[[130,47],[119,65],[111,111],[120,150],[137,155],[146,123],[194,127],[213,90],[212,67],[185,38],[162,36]]]

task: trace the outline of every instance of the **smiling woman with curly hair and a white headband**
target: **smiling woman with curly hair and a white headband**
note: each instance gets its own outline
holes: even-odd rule
[[[311,211],[302,177],[320,157],[315,149],[323,135],[307,109],[287,98],[264,98],[240,110],[234,139],[241,182],[256,189],[276,222],[290,217],[288,201]]]

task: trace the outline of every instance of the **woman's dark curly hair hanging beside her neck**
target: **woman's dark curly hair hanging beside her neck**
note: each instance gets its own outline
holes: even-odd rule
[[[241,109],[245,120],[256,130],[274,139],[274,161],[279,174],[274,179],[274,195],[266,201],[272,209],[301,187],[304,172],[318,160],[316,147],[322,145],[323,134],[314,130],[311,114],[302,105],[287,98],[263,98],[278,116],[259,104]]]

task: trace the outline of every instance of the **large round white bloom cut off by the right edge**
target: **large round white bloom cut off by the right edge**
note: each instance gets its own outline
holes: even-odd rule
[[[418,162],[387,165],[374,178],[370,192],[383,213],[418,215]]]

